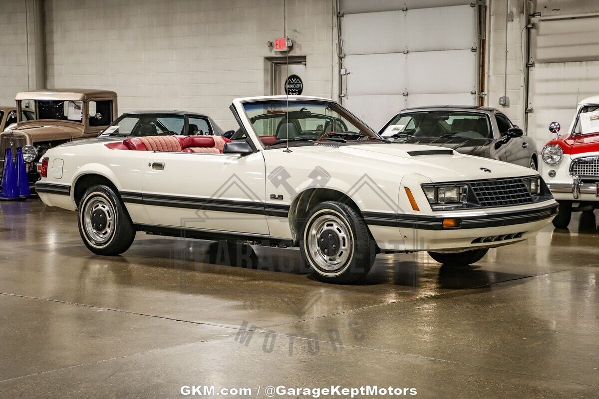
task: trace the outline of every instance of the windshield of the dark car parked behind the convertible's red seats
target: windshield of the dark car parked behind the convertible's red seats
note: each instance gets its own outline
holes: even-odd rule
[[[102,135],[156,136],[181,135],[185,127],[184,115],[178,114],[124,114],[108,126]]]

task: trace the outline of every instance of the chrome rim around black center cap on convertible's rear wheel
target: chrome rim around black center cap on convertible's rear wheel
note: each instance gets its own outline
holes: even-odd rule
[[[96,224],[94,226],[92,221],[92,219],[95,219],[92,217],[94,212],[104,215],[104,225],[99,226]],[[99,191],[89,194],[81,207],[80,223],[87,242],[90,245],[95,248],[104,248],[110,244],[114,237],[117,223],[116,211],[110,198]]]

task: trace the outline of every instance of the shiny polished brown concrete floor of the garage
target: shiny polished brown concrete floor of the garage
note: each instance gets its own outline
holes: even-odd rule
[[[296,249],[139,233],[123,256],[99,257],[74,212],[0,210],[1,398],[171,398],[204,384],[599,396],[592,215],[470,267],[379,255],[365,284],[337,286],[312,279]]]

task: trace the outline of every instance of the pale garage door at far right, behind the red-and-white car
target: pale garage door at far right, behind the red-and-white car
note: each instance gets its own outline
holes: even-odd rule
[[[528,134],[540,150],[553,138],[550,122],[566,132],[577,103],[599,93],[599,17],[532,22]]]

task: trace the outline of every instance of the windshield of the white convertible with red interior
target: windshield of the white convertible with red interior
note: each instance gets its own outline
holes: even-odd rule
[[[323,141],[343,143],[380,142],[380,136],[349,111],[334,102],[321,100],[261,100],[243,104],[256,135],[265,147],[311,145]],[[240,139],[238,130],[231,139]]]

